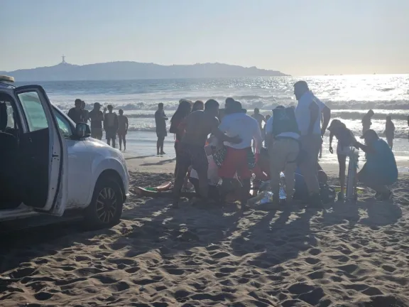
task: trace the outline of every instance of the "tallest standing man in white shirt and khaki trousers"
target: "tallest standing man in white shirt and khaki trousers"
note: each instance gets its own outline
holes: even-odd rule
[[[310,193],[310,205],[320,207],[322,202],[320,200],[320,185],[317,180],[317,163],[322,144],[320,117],[321,110],[324,108],[320,109],[320,105],[322,106],[323,103],[312,94],[305,81],[295,83],[294,95],[298,100],[295,117],[300,130],[300,171]],[[324,126],[325,124],[323,124],[323,128]]]

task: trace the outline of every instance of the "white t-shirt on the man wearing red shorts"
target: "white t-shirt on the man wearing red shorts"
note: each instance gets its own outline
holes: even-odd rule
[[[219,129],[225,132],[227,136],[239,136],[241,143],[231,144],[224,142],[224,145],[234,149],[245,149],[251,147],[251,141],[254,139],[256,143],[256,151],[258,151],[263,142],[261,137],[260,126],[256,119],[250,117],[245,113],[228,114],[222,119],[222,123],[219,125]]]

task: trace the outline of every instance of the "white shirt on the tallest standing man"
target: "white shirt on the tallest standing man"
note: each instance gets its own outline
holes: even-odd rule
[[[312,92],[305,92],[300,100],[298,100],[297,107],[295,108],[295,118],[297,119],[298,129],[300,129],[302,136],[308,133],[308,126],[310,126],[310,104],[312,101],[318,105],[317,120],[315,121],[312,133],[321,135],[321,113],[326,107],[325,103],[315,97]]]

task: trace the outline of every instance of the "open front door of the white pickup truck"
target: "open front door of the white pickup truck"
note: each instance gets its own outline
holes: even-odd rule
[[[67,202],[67,146],[43,87],[25,85],[14,90],[23,133],[19,139],[24,173],[24,205],[62,215]]]

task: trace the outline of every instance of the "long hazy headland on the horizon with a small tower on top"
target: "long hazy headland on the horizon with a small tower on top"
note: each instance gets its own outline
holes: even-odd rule
[[[276,77],[287,76],[277,70],[256,67],[244,68],[222,63],[194,65],[158,65],[138,62],[110,62],[73,65],[62,62],[58,65],[14,71],[0,71],[0,75],[11,75],[16,81],[69,81],[69,80],[133,80],[133,79],[176,79],[206,77]]]

